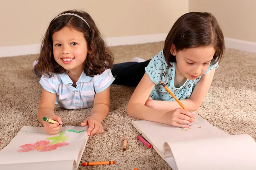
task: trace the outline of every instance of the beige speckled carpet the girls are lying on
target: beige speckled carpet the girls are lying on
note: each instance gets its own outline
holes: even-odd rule
[[[163,42],[113,47],[115,63],[133,57],[150,59],[163,49]],[[22,126],[41,126],[37,109],[41,95],[39,78],[32,73],[38,55],[0,58],[0,149]],[[247,133],[256,138],[256,54],[227,49],[216,70],[212,86],[197,113],[212,125],[233,134]],[[81,162],[116,161],[115,165],[79,167],[83,169],[167,170],[171,169],[154,149],[147,149],[131,125],[126,105],[134,88],[111,85],[110,113],[102,123],[104,134],[88,140]],[[90,109],[66,110],[55,107],[64,125],[79,126]],[[128,150],[122,141],[128,138]],[[189,156],[192,156],[188,152]],[[56,155],[57,156],[57,155]],[[186,157],[189,159],[189,156]]]

